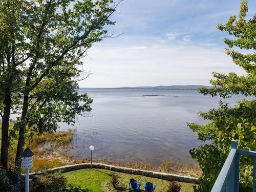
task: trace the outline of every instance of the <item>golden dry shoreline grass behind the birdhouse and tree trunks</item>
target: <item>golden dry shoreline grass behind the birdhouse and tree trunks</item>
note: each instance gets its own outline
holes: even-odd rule
[[[12,129],[12,127],[13,124],[10,124],[10,129]],[[61,160],[61,157],[63,157],[63,155],[65,156],[64,151],[68,150],[68,146],[72,141],[73,136],[74,131],[68,130],[66,132],[43,133],[41,135],[34,134],[32,137],[26,138],[25,146],[29,146],[35,154],[33,158],[33,167],[30,171],[37,172],[39,170],[46,170],[69,164],[68,162]],[[14,169],[17,145],[16,140],[14,140],[9,147],[8,160],[11,169]],[[55,154],[53,151],[55,151]]]

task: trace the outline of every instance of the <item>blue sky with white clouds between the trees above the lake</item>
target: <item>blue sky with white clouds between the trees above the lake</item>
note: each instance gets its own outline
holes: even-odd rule
[[[209,85],[212,72],[245,72],[225,55],[226,32],[216,29],[239,14],[239,0],[124,0],[111,19],[118,38],[97,42],[83,58],[90,76],[80,87]],[[249,0],[247,17],[255,14]]]

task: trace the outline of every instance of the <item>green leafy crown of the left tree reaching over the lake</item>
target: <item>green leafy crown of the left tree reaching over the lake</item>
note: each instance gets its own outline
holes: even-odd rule
[[[94,42],[111,36],[103,27],[115,24],[109,19],[115,5],[112,0],[24,3],[19,43],[24,44],[23,59],[29,65],[19,66],[19,91],[24,98],[29,95],[20,106],[26,116],[21,116],[15,127],[26,124],[39,133],[51,132],[57,129],[57,122],[74,123],[76,114],[91,111],[93,100],[74,92],[79,89],[77,82],[87,77],[81,77],[80,58]]]

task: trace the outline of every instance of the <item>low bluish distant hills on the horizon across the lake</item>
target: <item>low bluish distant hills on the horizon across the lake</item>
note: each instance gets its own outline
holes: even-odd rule
[[[156,87],[122,87],[122,88],[114,88],[114,89],[157,89],[157,90],[198,90],[202,86],[200,85],[187,85],[187,86],[156,86]],[[212,88],[210,86],[203,86],[205,88]]]

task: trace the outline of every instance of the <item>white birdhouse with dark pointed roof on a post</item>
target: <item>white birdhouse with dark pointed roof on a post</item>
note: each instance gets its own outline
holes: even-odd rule
[[[26,170],[25,188],[29,192],[29,168],[33,166],[33,152],[29,147],[22,153],[22,167]]]

